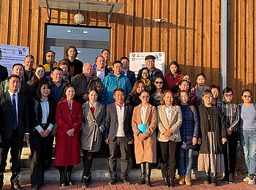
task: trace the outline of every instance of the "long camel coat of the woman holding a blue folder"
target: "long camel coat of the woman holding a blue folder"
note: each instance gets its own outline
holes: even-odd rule
[[[140,130],[138,129],[138,124],[142,124],[140,118],[140,108],[141,104],[133,110],[132,115],[132,130],[135,138],[135,157],[137,164],[140,164],[144,161],[150,163],[157,162],[157,137],[156,137],[156,128],[157,128],[157,109],[151,104],[148,104],[146,110],[146,132],[148,137],[145,140],[141,141],[138,137]]]

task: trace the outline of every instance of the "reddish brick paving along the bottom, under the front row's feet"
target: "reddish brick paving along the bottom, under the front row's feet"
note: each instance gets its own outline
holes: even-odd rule
[[[87,188],[87,189],[105,189],[105,190],[112,190],[112,189],[124,189],[124,190],[128,190],[128,189],[148,189],[148,187],[146,185],[143,186],[138,186],[136,185],[137,181],[131,181],[132,184],[130,185],[124,185],[123,183],[121,183],[120,181],[118,181],[116,183],[115,186],[110,186],[108,185],[108,181],[105,180],[93,180],[91,183],[91,188]],[[212,187],[210,185],[205,185],[203,184],[203,180],[192,180],[192,186],[179,186],[177,183],[175,184],[174,188],[167,188],[165,186],[163,186],[163,181],[162,180],[156,180],[156,181],[152,181],[152,187],[150,189],[222,189],[222,190],[226,190],[226,189],[256,189],[256,185],[248,185],[247,183],[243,182],[241,178],[236,178],[236,183],[235,184],[227,184],[227,183],[222,183],[221,180],[218,180],[218,186],[217,187]],[[4,186],[4,189],[10,189],[10,185],[9,186]],[[31,189],[30,184],[26,184],[23,185],[23,189]],[[75,186],[72,187],[64,187],[64,188],[59,188],[59,183],[52,183],[49,182],[46,184],[45,187],[42,188],[43,189],[47,189],[47,190],[51,190],[51,189],[82,189],[80,182],[79,181],[75,181]]]

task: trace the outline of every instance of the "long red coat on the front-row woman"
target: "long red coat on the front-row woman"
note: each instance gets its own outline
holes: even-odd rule
[[[56,121],[59,123],[56,137],[56,166],[80,164],[80,124],[82,123],[80,104],[73,100],[72,115],[70,115],[67,99],[59,102],[56,109]],[[75,129],[74,136],[69,137],[67,131],[72,128]]]

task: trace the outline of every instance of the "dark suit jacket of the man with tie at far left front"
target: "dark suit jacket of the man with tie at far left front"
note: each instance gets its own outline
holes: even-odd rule
[[[0,134],[4,140],[9,140],[13,131],[14,110],[9,92],[0,95]],[[18,93],[18,133],[23,139],[29,133],[29,111],[26,96]]]

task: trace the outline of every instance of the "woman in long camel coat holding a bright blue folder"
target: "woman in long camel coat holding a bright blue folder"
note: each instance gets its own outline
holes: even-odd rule
[[[157,162],[157,110],[149,104],[148,91],[140,94],[141,104],[134,108],[132,130],[135,138],[135,157],[141,167],[141,178],[138,184],[146,183],[150,187],[151,164]]]

